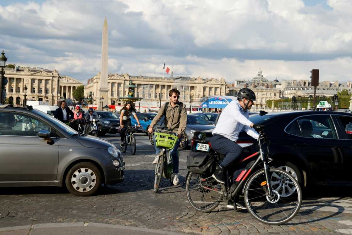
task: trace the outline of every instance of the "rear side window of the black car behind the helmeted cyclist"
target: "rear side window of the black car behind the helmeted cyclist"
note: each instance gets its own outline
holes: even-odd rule
[[[334,124],[329,115],[311,115],[298,118],[303,137],[337,139]]]

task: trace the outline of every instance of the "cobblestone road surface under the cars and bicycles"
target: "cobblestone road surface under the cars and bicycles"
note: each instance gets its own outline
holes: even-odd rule
[[[119,136],[104,138],[118,146]],[[298,215],[288,224],[258,222],[246,210],[233,211],[221,203],[210,213],[190,207],[185,190],[187,151],[180,149],[180,185],[163,179],[155,194],[151,161],[155,150],[147,136],[137,134],[137,152],[127,149],[125,180],[102,187],[93,197],[76,197],[62,188],[1,188],[0,227],[37,223],[91,222],[203,234],[352,234],[352,198],[346,188],[313,190]],[[334,196],[334,197],[331,197]]]

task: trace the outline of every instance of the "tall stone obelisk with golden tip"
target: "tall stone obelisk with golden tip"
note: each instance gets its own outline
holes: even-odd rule
[[[106,17],[103,25],[103,35],[101,40],[101,68],[99,86],[99,109],[108,105],[108,23]],[[103,100],[101,98],[104,98]],[[102,106],[101,106],[102,105]]]

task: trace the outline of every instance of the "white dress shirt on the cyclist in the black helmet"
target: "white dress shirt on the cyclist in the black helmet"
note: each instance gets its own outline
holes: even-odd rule
[[[248,120],[249,113],[245,111],[238,100],[232,100],[224,110],[222,110],[218,123],[216,124],[213,134],[219,134],[226,138],[237,141],[238,134],[245,131],[248,135],[257,139],[259,134],[250,127],[251,121]]]

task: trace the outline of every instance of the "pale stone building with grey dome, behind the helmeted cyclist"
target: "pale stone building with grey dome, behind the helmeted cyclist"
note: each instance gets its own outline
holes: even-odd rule
[[[265,109],[267,100],[280,99],[281,82],[278,80],[269,81],[259,70],[257,76],[237,86],[228,88],[227,95],[237,96],[241,88],[250,88],[256,94],[256,101],[252,109]]]

